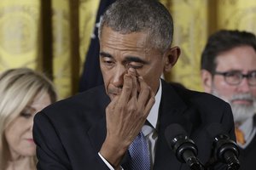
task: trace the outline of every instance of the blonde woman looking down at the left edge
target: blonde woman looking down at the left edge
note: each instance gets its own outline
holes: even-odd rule
[[[0,169],[36,169],[33,117],[56,101],[55,88],[47,77],[27,68],[0,75]]]

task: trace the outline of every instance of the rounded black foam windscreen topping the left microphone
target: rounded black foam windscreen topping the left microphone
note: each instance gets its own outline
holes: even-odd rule
[[[177,123],[173,123],[166,127],[165,135],[166,140],[170,142],[172,139],[176,138],[178,135],[186,135],[186,131]]]

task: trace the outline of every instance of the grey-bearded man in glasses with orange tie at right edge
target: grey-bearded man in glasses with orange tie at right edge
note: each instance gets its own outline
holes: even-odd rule
[[[256,37],[248,31],[212,34],[201,56],[205,91],[227,101],[233,111],[241,169],[256,167]]]

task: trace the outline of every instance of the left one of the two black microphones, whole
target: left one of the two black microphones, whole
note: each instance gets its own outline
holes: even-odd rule
[[[172,151],[175,153],[177,160],[187,163],[192,170],[203,170],[201,162],[198,160],[197,147],[193,140],[189,139],[183,127],[179,124],[171,124],[166,127],[166,141]]]

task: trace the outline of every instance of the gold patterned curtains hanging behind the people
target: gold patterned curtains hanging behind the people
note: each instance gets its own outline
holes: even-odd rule
[[[44,71],[55,83],[59,99],[83,91],[86,69],[98,69],[88,53],[96,16],[110,0],[1,0],[0,72],[29,67]],[[219,29],[238,29],[256,34],[255,0],[160,0],[174,20],[173,46],[182,54],[169,82],[202,91],[201,51],[207,37]],[[88,66],[89,65],[89,66]],[[90,71],[89,71],[90,72]],[[93,72],[93,71],[92,71]],[[92,77],[94,81],[96,77]]]

